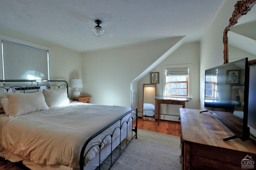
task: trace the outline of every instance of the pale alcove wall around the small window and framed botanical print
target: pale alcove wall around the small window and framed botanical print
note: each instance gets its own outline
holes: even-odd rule
[[[156,95],[163,96],[163,66],[164,65],[176,65],[176,64],[192,64],[193,72],[192,78],[190,78],[190,98],[189,102],[186,102],[186,108],[199,109],[200,108],[200,96],[199,96],[199,42],[187,43],[178,48],[162,63],[160,63],[151,72],[159,72],[159,84],[156,84]],[[143,96],[143,84],[150,83],[150,73],[144,76],[138,82],[138,111],[142,111],[142,96]]]

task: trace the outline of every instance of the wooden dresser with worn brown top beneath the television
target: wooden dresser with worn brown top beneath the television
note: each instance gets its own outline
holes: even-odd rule
[[[180,108],[182,170],[255,169],[256,145],[240,139],[223,141],[234,133],[209,112],[200,111]],[[252,161],[243,161],[244,158]]]

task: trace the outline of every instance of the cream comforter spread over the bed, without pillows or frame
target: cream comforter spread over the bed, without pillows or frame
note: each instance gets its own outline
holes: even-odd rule
[[[38,164],[79,168],[80,150],[86,139],[129,110],[123,106],[73,102],[66,107],[17,117],[1,115],[0,144],[14,154]],[[119,126],[120,122],[117,124]],[[99,140],[94,142],[98,143]],[[86,159],[90,160],[97,151],[92,150]]]

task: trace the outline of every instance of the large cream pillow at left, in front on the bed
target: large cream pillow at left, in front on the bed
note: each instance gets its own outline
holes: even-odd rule
[[[36,93],[5,93],[9,102],[10,116],[24,115],[40,110],[47,110],[44,94]]]

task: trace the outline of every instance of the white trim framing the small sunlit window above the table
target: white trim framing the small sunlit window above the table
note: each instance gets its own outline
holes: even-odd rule
[[[180,68],[180,67],[188,67],[188,96],[171,96],[178,98],[192,98],[192,88],[193,88],[193,64],[175,64],[175,65],[163,65],[163,96],[166,96],[166,68]],[[170,97],[170,96],[169,96]]]

